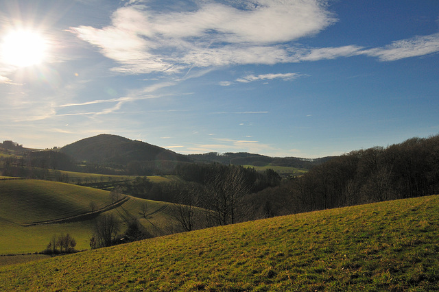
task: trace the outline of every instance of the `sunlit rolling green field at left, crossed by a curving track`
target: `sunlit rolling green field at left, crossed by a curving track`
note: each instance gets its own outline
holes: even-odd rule
[[[41,252],[51,236],[67,232],[77,241],[78,250],[89,249],[93,220],[98,216],[89,214],[91,201],[102,209],[101,216],[112,213],[123,222],[139,219],[154,235],[169,233],[172,231],[169,229],[178,226],[165,214],[167,203],[128,196],[128,200],[115,208],[110,206],[108,191],[43,180],[3,179],[0,180],[0,254]],[[141,214],[145,203],[147,219]],[[126,225],[123,224],[122,232]]]

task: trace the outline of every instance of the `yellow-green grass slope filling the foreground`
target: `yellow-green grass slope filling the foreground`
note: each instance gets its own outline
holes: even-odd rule
[[[431,291],[439,196],[197,230],[0,268],[2,291]]]

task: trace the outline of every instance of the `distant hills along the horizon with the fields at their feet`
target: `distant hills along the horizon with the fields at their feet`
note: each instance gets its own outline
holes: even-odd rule
[[[145,142],[133,141],[111,134],[99,134],[62,148],[55,147],[45,150],[23,148],[22,145],[12,141],[5,141],[0,146],[0,167],[7,164],[6,175],[21,177],[29,177],[29,173],[23,173],[23,169],[17,168],[17,166],[22,167],[23,165],[85,173],[164,175],[173,174],[177,167],[193,162],[242,165],[254,167],[257,171],[275,169],[281,175],[288,176],[300,175],[333,158],[281,158],[246,152],[182,155]],[[5,160],[5,158],[9,158],[9,160]]]

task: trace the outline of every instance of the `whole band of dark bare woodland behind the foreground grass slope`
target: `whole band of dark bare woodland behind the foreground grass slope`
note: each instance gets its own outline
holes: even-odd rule
[[[351,151],[289,180],[271,170],[218,163],[180,166],[176,174],[185,182],[139,179],[132,188],[147,199],[173,202],[171,212],[184,230],[432,195],[439,192],[439,135]]]

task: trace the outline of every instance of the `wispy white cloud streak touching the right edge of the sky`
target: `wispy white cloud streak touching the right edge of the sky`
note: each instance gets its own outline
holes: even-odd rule
[[[383,48],[368,49],[364,53],[378,57],[380,61],[395,61],[403,58],[425,56],[439,51],[439,34],[416,36],[397,40]]]

